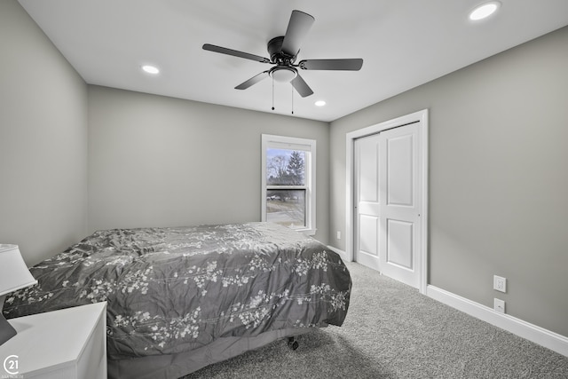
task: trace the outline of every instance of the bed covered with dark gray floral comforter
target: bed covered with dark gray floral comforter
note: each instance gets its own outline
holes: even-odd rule
[[[351,277],[335,252],[271,223],[113,229],[30,268],[20,317],[107,302],[109,378],[177,378],[312,328],[341,326]]]

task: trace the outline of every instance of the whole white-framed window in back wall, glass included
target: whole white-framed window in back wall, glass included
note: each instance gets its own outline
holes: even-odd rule
[[[262,150],[262,220],[315,234],[316,141],[263,134]]]

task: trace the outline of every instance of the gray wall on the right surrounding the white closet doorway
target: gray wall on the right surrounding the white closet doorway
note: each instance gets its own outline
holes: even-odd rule
[[[568,336],[567,47],[562,28],[332,122],[330,244],[345,249],[345,134],[429,108],[429,283]]]

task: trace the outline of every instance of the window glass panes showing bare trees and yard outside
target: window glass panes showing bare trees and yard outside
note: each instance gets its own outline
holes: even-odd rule
[[[306,224],[305,152],[266,151],[266,220],[291,228]]]

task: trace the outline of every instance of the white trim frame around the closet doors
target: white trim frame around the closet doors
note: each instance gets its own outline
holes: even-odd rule
[[[421,122],[421,140],[419,141],[419,160],[422,164],[422,186],[420,188],[422,197],[422,209],[420,209],[421,219],[422,219],[422,238],[420,241],[420,249],[418,254],[421,257],[421,265],[419,267],[420,275],[420,286],[419,290],[421,294],[426,294],[426,287],[428,285],[428,109],[422,109],[421,111],[414,112],[413,114],[406,114],[395,119],[380,122],[375,125],[367,126],[366,128],[354,130],[345,135],[345,152],[346,152],[346,162],[345,162],[345,182],[346,182],[346,209],[345,209],[345,254],[349,262],[353,261],[355,241],[354,235],[354,185],[355,185],[355,159],[354,159],[354,146],[355,139],[366,137],[372,134],[379,133],[383,130],[388,130],[392,128],[397,128],[398,126],[403,126],[408,123]]]

